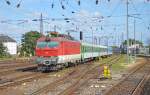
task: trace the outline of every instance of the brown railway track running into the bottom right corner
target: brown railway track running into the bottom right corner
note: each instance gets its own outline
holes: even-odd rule
[[[147,60],[144,64],[137,66],[122,81],[113,86],[104,95],[140,95],[143,85],[146,83],[150,73],[150,63]]]

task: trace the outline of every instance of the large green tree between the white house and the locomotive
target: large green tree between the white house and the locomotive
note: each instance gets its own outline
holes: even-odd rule
[[[34,50],[36,47],[36,41],[38,38],[40,38],[42,35],[37,31],[30,31],[25,34],[23,34],[21,39],[21,56],[30,56],[34,55]]]

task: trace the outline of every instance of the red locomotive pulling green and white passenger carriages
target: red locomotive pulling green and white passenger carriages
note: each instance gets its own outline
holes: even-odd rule
[[[77,41],[71,36],[57,35],[39,38],[35,55],[38,70],[53,71],[99,57],[110,56],[112,48]]]

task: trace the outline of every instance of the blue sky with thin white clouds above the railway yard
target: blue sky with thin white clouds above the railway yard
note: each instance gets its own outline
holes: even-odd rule
[[[6,4],[10,1],[10,5]],[[91,42],[92,33],[100,38],[101,44],[119,45],[126,39],[126,1],[127,0],[0,0],[0,34],[14,38],[18,43],[24,33],[40,31],[39,19],[42,13],[44,33],[56,30],[70,34],[79,39],[79,31],[83,31],[84,41]],[[20,2],[20,7],[16,5]],[[52,8],[52,4],[54,5]],[[64,5],[65,9],[62,9]],[[150,39],[150,1],[129,0],[129,37],[134,37],[134,20],[136,39],[144,44]],[[64,18],[71,19],[67,23]],[[55,19],[55,20],[52,20]],[[142,35],[142,36],[141,36]],[[107,37],[107,38],[106,38]]]

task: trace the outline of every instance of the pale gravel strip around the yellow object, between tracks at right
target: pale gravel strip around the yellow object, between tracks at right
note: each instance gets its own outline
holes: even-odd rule
[[[112,71],[112,79],[102,79],[102,75],[98,76],[97,79],[91,79],[87,84],[74,92],[74,95],[104,95],[108,89],[122,80],[135,66],[143,62],[142,59],[138,59],[137,63],[129,64],[124,70],[119,72]]]

